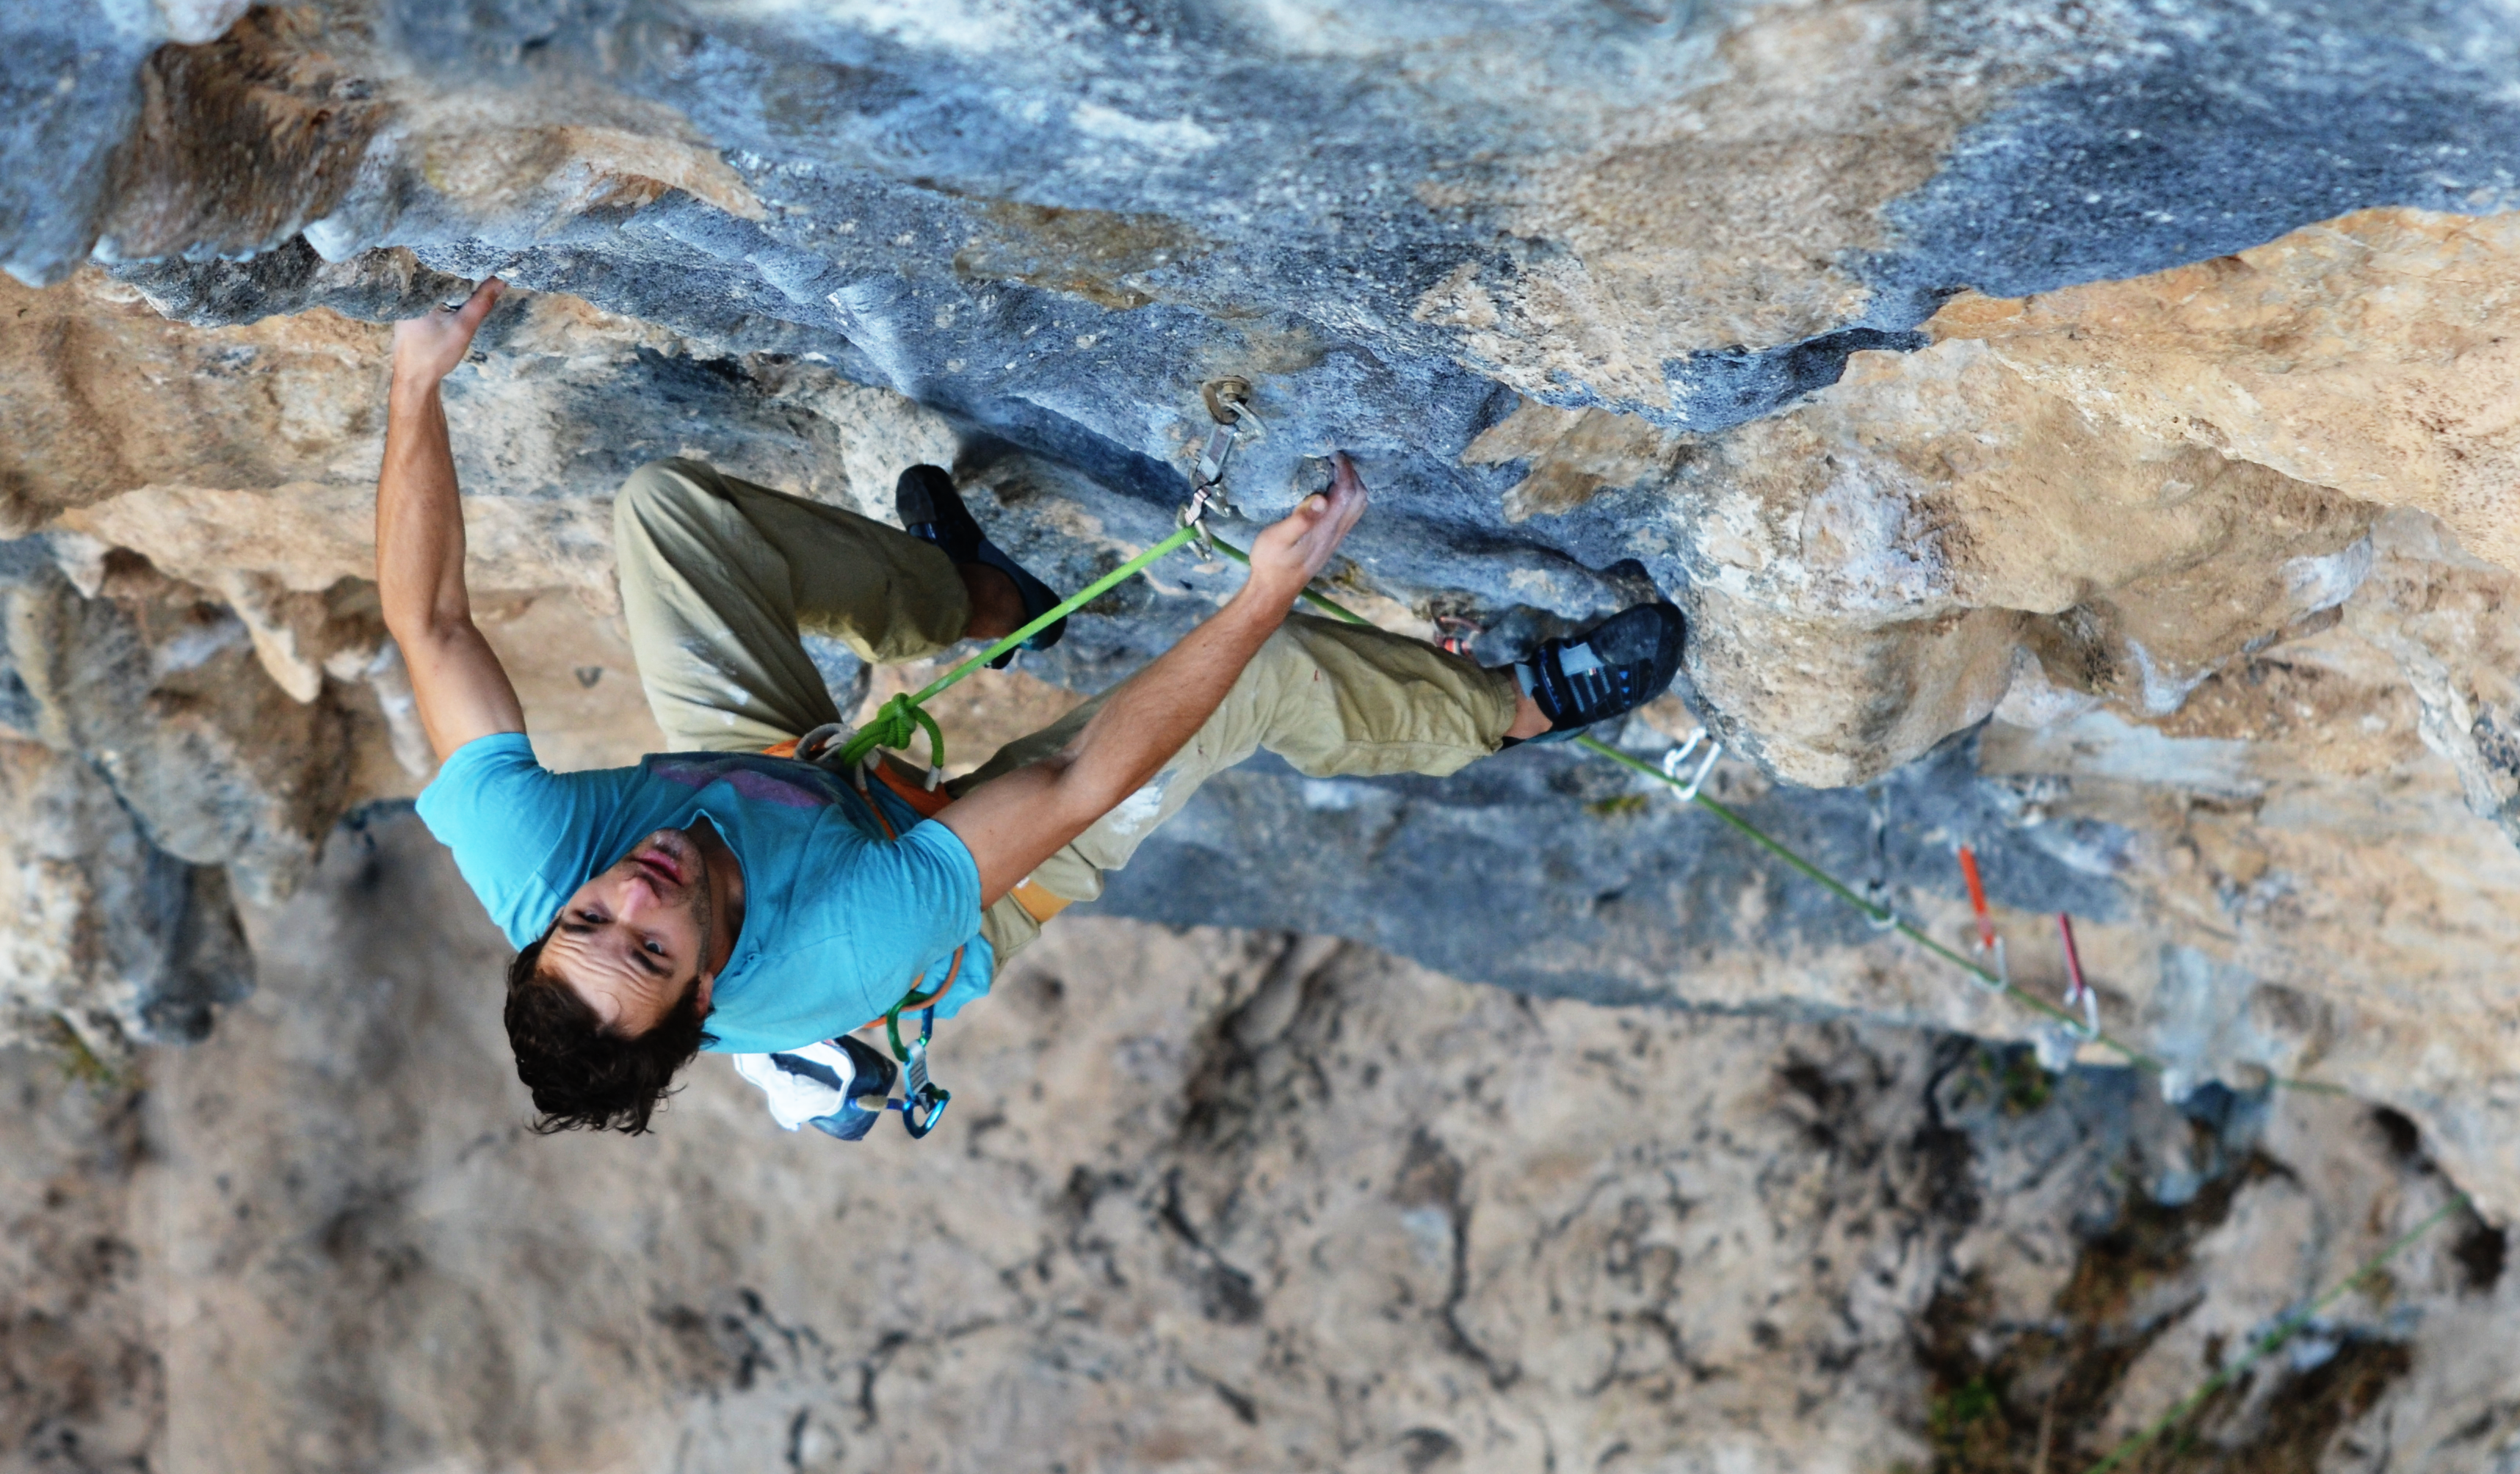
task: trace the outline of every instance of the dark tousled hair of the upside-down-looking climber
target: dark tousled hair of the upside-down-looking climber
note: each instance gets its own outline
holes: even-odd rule
[[[673,1094],[675,1071],[701,1046],[716,1043],[701,1028],[701,985],[635,1038],[607,1033],[577,988],[542,973],[542,945],[527,942],[507,965],[507,1043],[517,1051],[517,1078],[534,1094],[534,1134],[622,1131],[640,1136],[648,1116]]]

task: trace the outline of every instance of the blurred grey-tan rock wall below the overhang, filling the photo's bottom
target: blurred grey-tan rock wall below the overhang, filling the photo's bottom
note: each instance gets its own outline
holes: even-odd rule
[[[0,1058],[13,1454],[2082,1469],[2449,1192],[2346,1099],[1099,917],[937,1031],[922,1144],[781,1134],[723,1061],[534,1139],[461,897],[408,816],[343,831],[146,1094]],[[2197,1449],[2507,1461],[2500,1247],[2454,1214]]]

